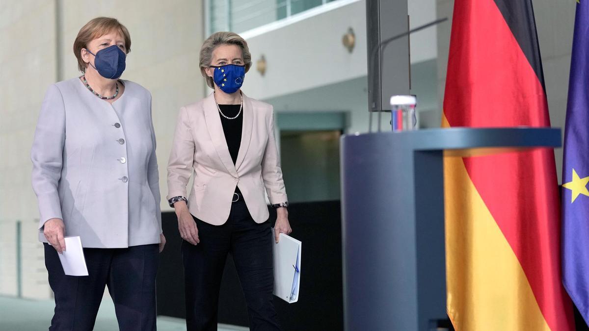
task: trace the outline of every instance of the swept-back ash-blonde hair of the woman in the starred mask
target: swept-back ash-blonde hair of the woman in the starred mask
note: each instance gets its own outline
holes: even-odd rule
[[[213,51],[220,45],[237,45],[241,48],[241,55],[243,56],[243,62],[246,65],[246,72],[252,67],[252,54],[250,49],[247,47],[245,39],[241,38],[240,35],[234,32],[215,32],[209,38],[203,42],[203,46],[200,48],[200,72],[207,80],[207,85],[210,88],[214,88],[214,81],[212,77],[207,76],[204,69],[209,68],[213,61]]]

